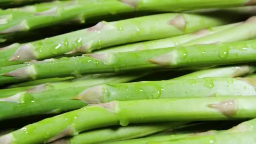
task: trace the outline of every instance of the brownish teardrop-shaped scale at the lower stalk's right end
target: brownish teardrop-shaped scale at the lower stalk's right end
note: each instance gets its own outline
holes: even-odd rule
[[[223,115],[233,116],[237,113],[237,101],[235,99],[229,99],[222,101],[219,104],[209,104],[208,107],[218,109]]]

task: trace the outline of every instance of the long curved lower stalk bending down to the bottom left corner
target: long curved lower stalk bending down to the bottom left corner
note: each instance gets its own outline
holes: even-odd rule
[[[79,102],[79,101],[77,101]],[[24,126],[1,143],[43,143],[93,128],[179,120],[230,120],[256,117],[255,97],[207,97],[112,101],[83,107]],[[54,127],[54,128],[53,128]]]

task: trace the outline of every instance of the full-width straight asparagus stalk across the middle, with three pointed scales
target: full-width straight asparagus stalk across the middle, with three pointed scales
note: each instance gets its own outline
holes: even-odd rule
[[[77,73],[92,74],[245,63],[256,60],[255,46],[256,40],[248,40],[123,53],[89,54],[89,56],[53,59],[52,61],[35,63],[28,67],[4,73],[2,76],[35,80],[47,77],[65,77]]]

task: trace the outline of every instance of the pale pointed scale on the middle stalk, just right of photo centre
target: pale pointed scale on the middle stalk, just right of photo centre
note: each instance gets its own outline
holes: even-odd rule
[[[176,64],[175,62],[175,53],[167,53],[162,56],[158,56],[152,59],[148,59],[148,61],[152,64],[157,64],[160,66],[167,66],[167,65],[173,65]]]

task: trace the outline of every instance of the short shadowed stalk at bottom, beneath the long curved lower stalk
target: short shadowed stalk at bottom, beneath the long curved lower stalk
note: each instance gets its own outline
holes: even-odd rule
[[[186,124],[186,122],[146,123],[129,125],[125,127],[102,128],[80,133],[79,135],[70,139],[59,139],[51,144],[94,144],[104,141],[113,142],[125,139],[134,139],[174,128],[183,124]]]

